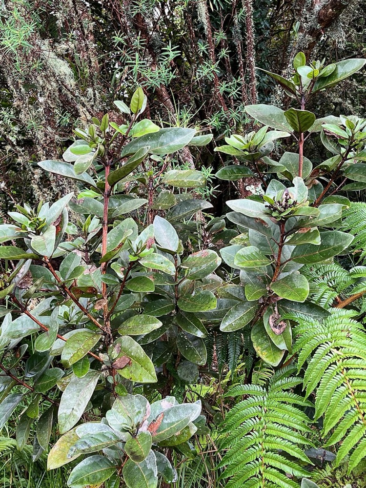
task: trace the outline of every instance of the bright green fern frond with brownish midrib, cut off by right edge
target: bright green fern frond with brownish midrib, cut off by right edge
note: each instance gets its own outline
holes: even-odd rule
[[[319,337],[323,338],[311,353],[304,387],[306,396],[315,392],[315,419],[324,416],[323,434],[334,428],[327,445],[341,443],[335,466],[346,456],[352,459],[348,472],[366,457],[366,449],[360,448],[366,439],[366,333],[363,325],[352,318],[355,313],[332,310],[322,323],[317,323],[316,329],[305,329],[308,317],[298,317],[299,326],[294,328],[294,334],[299,336],[294,351],[302,359],[309,350],[305,339],[315,344]]]

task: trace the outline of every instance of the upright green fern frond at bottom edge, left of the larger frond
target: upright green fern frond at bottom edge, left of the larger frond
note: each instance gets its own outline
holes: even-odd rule
[[[222,435],[220,447],[228,450],[218,465],[225,467],[220,479],[231,478],[226,488],[298,488],[286,473],[309,476],[300,463],[311,464],[304,452],[304,447],[313,446],[306,438],[311,429],[308,417],[296,405],[312,404],[291,391],[300,383],[292,376],[295,371],[296,366],[281,368],[267,388],[233,386],[225,395],[246,397],[228,411],[221,427],[223,434],[229,433]]]

